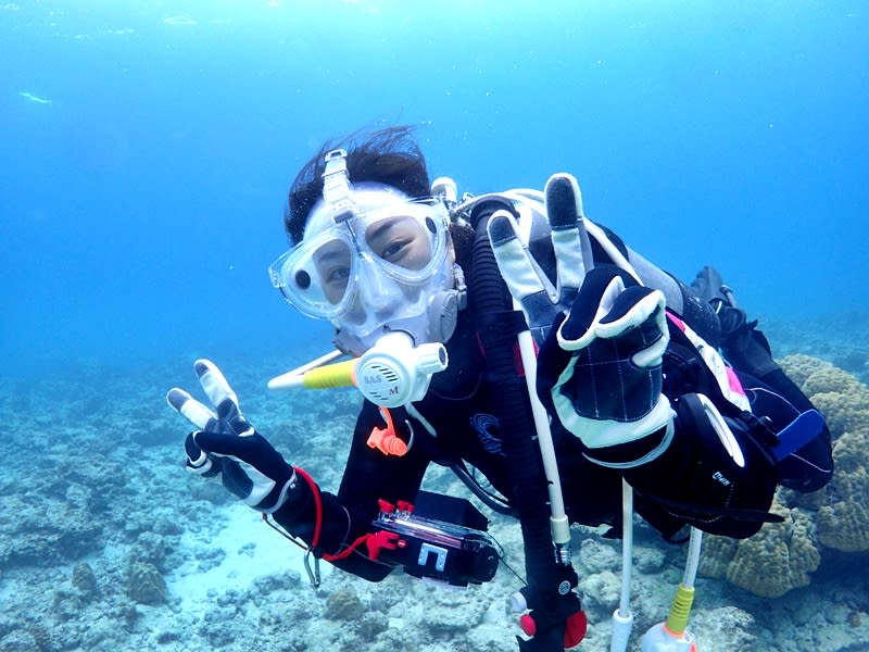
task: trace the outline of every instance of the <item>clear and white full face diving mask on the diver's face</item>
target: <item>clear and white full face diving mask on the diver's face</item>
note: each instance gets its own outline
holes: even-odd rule
[[[355,355],[396,330],[415,346],[445,341],[459,298],[446,206],[379,184],[351,186],[345,155],[326,155],[323,200],[302,242],[269,267],[272,284],[302,313],[329,319],[338,347]]]

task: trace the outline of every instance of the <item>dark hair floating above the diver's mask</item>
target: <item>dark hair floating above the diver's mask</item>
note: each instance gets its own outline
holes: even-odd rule
[[[326,141],[305,163],[290,187],[284,212],[284,228],[290,244],[304,235],[311,210],[323,198],[324,156],[333,149],[347,150],[347,171],[351,183],[378,183],[398,188],[410,197],[431,192],[426,159],[413,136],[414,127],[396,125],[385,129],[362,129],[340,139]]]

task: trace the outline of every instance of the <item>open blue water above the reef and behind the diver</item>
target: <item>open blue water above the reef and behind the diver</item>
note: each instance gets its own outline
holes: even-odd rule
[[[385,123],[463,191],[572,172],[754,313],[869,310],[868,27],[861,1],[5,3],[0,373],[326,350],[266,275],[286,191]]]

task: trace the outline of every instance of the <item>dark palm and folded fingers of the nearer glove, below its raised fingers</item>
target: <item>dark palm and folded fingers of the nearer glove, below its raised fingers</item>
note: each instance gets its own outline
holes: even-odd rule
[[[625,459],[624,447],[615,457],[607,449],[670,423],[670,402],[662,393],[668,342],[659,290],[637,285],[616,267],[592,269],[570,313],[556,321],[540,349],[540,400],[590,449],[591,459],[597,451],[597,461],[634,462]]]

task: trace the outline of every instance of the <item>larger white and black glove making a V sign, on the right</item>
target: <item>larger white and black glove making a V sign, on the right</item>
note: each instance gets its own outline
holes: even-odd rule
[[[540,347],[538,394],[590,451],[632,442],[671,417],[660,391],[668,342],[664,294],[639,286],[614,265],[592,268],[572,176],[552,176],[545,201],[556,287],[507,212],[499,211],[489,223],[501,275]]]

